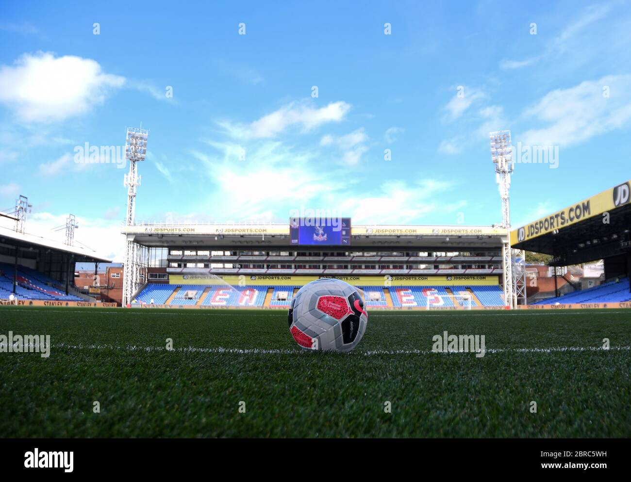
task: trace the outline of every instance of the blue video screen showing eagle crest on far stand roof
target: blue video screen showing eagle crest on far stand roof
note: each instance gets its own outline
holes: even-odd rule
[[[292,245],[350,246],[351,219],[337,217],[291,217],[289,239]]]

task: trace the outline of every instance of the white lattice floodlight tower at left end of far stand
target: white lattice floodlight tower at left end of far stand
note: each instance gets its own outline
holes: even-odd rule
[[[134,210],[136,206],[136,188],[140,185],[140,175],[136,163],[144,161],[147,153],[148,130],[130,127],[127,129],[125,141],[125,158],[129,159],[129,173],[124,176],[123,185],[127,187],[126,226],[134,226]],[[141,278],[141,249],[127,235],[125,267],[123,272],[122,305],[131,302],[134,293],[139,289]]]

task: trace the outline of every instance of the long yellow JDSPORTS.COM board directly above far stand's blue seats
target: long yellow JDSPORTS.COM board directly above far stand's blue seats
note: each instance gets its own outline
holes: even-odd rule
[[[299,275],[169,275],[172,285],[302,286],[319,276]],[[333,276],[355,286],[491,286],[498,275]]]

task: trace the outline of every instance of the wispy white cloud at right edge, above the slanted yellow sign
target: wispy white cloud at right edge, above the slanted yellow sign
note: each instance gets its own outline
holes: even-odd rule
[[[607,86],[610,98],[603,96]],[[526,130],[522,144],[569,146],[631,123],[631,75],[606,76],[568,89],[556,89],[529,106],[524,117],[541,127]]]

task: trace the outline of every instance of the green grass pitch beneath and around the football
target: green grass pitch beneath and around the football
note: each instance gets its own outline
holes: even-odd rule
[[[431,353],[445,330],[486,355]],[[52,348],[0,353],[1,437],[631,436],[622,309],[373,311],[348,354],[300,351],[285,311],[0,307],[9,331]],[[560,347],[595,349],[524,350]]]

